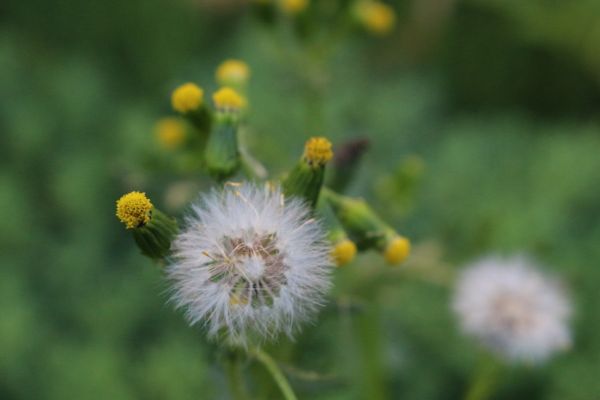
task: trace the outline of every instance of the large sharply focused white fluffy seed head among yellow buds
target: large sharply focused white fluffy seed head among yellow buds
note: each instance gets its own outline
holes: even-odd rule
[[[292,337],[330,286],[323,230],[277,187],[231,184],[204,195],[173,247],[172,300],[209,337],[236,345]]]

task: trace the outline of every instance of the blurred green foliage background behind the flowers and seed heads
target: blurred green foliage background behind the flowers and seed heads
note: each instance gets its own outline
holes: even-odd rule
[[[311,135],[368,137],[349,192],[415,244],[398,270],[367,254],[336,271],[315,323],[270,347],[300,398],[462,398],[478,349],[447,277],[487,252],[533,254],[576,308],[571,351],[508,369],[494,398],[596,398],[600,3],[393,6],[391,35],[353,34],[324,66],[316,123],[277,34],[240,2],[4,0],[0,398],[229,398],[218,351],[166,303],[114,202],[140,189],[172,211],[177,188],[208,187],[155,167],[171,164],[153,126],[176,85],[214,89],[230,57],[252,68],[249,146],[273,175]],[[279,398],[260,366],[246,372],[257,396]]]

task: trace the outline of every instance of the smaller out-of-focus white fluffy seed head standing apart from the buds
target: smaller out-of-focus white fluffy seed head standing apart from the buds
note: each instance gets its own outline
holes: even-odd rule
[[[560,286],[524,257],[469,266],[453,303],[462,329],[510,361],[542,362],[571,343],[571,307]]]

